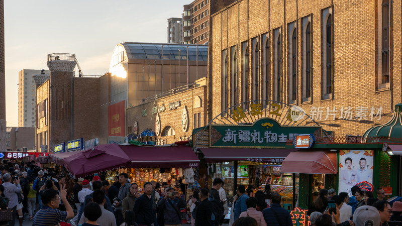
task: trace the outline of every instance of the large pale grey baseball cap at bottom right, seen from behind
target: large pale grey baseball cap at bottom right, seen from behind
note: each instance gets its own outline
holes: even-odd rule
[[[380,213],[377,208],[363,205],[355,210],[353,222],[356,226],[376,226],[381,224]]]

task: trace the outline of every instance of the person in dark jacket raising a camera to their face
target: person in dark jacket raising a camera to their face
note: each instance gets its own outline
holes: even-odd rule
[[[180,208],[186,207],[184,198],[174,188],[168,188],[165,197],[157,204],[165,211],[165,226],[181,225]]]

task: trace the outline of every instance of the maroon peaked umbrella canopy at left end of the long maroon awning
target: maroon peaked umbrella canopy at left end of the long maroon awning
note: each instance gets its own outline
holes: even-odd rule
[[[71,174],[86,176],[126,166],[131,159],[117,144],[99,145],[64,159]]]

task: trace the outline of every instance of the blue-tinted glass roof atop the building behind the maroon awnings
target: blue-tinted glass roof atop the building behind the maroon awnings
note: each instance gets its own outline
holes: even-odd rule
[[[129,59],[145,59],[145,60],[161,60],[162,59],[162,45],[163,45],[163,59],[171,60],[179,59],[187,60],[187,46],[188,46],[188,60],[196,60],[197,47],[195,45],[172,45],[172,44],[150,44],[150,43],[122,43],[127,52]],[[198,60],[208,60],[208,46],[198,45]]]

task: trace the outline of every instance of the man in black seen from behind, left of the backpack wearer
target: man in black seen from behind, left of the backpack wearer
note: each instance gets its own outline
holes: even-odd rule
[[[195,226],[214,226],[212,221],[212,203],[208,200],[209,191],[207,188],[199,190],[199,200],[201,201],[195,211]]]

